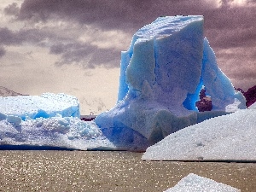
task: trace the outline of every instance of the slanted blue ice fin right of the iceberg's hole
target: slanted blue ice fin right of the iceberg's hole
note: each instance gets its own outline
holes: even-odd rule
[[[230,79],[218,67],[207,38],[204,39],[201,84],[204,84],[207,95],[211,96],[213,110],[236,111],[237,108],[246,108],[244,96],[240,91],[236,92]],[[226,108],[228,105],[235,108]]]

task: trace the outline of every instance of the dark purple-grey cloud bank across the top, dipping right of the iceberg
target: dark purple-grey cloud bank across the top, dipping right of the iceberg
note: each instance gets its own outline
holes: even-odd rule
[[[213,2],[213,1],[212,1]],[[21,20],[75,20],[103,29],[136,32],[160,15],[204,15],[205,31],[214,47],[247,46],[255,39],[255,7],[230,7],[232,0],[223,0],[216,8],[211,1],[137,1],[137,0],[25,0],[20,9]],[[247,3],[255,3],[248,1]],[[228,34],[231,33],[229,36]]]

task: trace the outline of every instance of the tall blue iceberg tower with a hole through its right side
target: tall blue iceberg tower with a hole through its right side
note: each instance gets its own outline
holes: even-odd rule
[[[203,16],[167,16],[138,30],[121,54],[118,103],[95,119],[106,137],[119,143],[145,137],[148,144],[205,119],[246,108],[219,69],[203,33]],[[204,87],[212,111],[195,102]]]

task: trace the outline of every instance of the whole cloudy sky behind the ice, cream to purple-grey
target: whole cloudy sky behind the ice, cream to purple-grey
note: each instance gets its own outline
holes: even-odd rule
[[[82,113],[112,108],[120,51],[161,15],[204,15],[218,66],[236,87],[256,84],[255,0],[1,0],[0,85],[66,92]]]

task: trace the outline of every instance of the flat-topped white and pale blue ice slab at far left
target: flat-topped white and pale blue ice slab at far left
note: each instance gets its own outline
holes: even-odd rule
[[[63,93],[44,93],[42,96],[1,96],[0,113],[21,119],[49,118],[57,113],[63,117],[80,117],[78,99]]]

